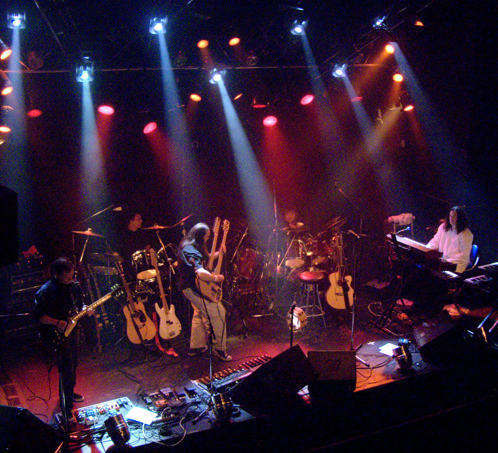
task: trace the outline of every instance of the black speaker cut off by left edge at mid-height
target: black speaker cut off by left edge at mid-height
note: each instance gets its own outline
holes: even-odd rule
[[[16,263],[19,257],[17,194],[0,185],[0,268]]]

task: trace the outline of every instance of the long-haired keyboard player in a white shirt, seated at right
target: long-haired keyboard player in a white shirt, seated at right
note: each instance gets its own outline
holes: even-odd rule
[[[473,239],[465,209],[453,206],[427,247],[441,252],[442,259],[456,264],[456,272],[461,273],[469,264]]]

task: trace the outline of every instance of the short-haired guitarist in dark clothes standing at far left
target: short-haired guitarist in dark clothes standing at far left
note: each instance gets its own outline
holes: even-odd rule
[[[68,319],[82,309],[83,293],[79,283],[73,281],[74,264],[68,258],[59,258],[52,264],[53,277],[36,293],[34,315],[42,323],[54,326],[64,332]],[[92,315],[94,310],[88,310]],[[66,417],[69,422],[74,421],[71,414],[73,402],[84,401],[84,397],[74,393],[76,385],[76,367],[78,366],[78,339],[79,330],[74,329],[59,347],[57,367],[62,378]],[[62,395],[59,389],[59,398]]]

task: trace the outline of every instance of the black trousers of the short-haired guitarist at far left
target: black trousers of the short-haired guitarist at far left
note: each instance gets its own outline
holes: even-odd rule
[[[78,338],[79,331],[73,331],[66,339],[60,349],[57,367],[62,378],[62,387],[64,391],[65,411],[68,417],[71,417],[73,409],[74,386],[76,385],[76,367],[78,366]],[[62,408],[62,394],[59,387],[59,399]]]

